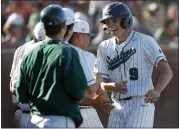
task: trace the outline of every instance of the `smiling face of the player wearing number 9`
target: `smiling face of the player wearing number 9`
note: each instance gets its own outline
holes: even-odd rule
[[[106,27],[107,31],[111,31],[113,36],[118,37],[123,33],[123,28],[120,25],[121,19],[114,18],[114,19],[107,19],[104,22],[104,26]]]

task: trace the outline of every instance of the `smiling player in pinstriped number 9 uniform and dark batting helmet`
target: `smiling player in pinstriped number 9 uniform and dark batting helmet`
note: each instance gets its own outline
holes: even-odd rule
[[[132,14],[127,5],[110,3],[102,17],[104,30],[113,37],[99,45],[96,69],[104,80],[126,84],[121,91],[111,89],[115,108],[108,127],[153,127],[154,103],[173,76],[167,59],[153,37],[130,29]],[[153,67],[161,73],[155,86],[151,78]],[[109,87],[102,85],[101,89]]]

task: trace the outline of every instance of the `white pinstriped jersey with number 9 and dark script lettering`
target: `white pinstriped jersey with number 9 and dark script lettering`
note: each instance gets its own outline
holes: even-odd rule
[[[131,31],[117,44],[115,37],[103,41],[97,50],[96,69],[113,82],[127,80],[127,94],[112,93],[112,98],[142,96],[153,88],[153,66],[166,57],[153,37]]]

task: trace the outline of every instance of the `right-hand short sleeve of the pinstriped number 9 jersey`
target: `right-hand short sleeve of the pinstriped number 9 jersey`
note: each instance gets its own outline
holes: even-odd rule
[[[153,37],[148,37],[143,42],[143,52],[146,59],[155,67],[160,60],[167,61],[162,49],[159,47],[158,43]]]

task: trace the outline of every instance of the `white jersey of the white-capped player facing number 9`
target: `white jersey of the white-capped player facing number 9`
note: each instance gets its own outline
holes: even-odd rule
[[[67,42],[65,42],[65,43],[69,44]],[[78,52],[80,63],[83,68],[83,71],[85,73],[88,86],[96,83],[96,80],[95,80],[94,74],[93,74],[94,63],[95,63],[95,59],[96,59],[94,54],[92,54],[88,51],[84,51],[76,46],[71,45],[71,44],[69,44],[69,45],[71,47],[73,47]]]

